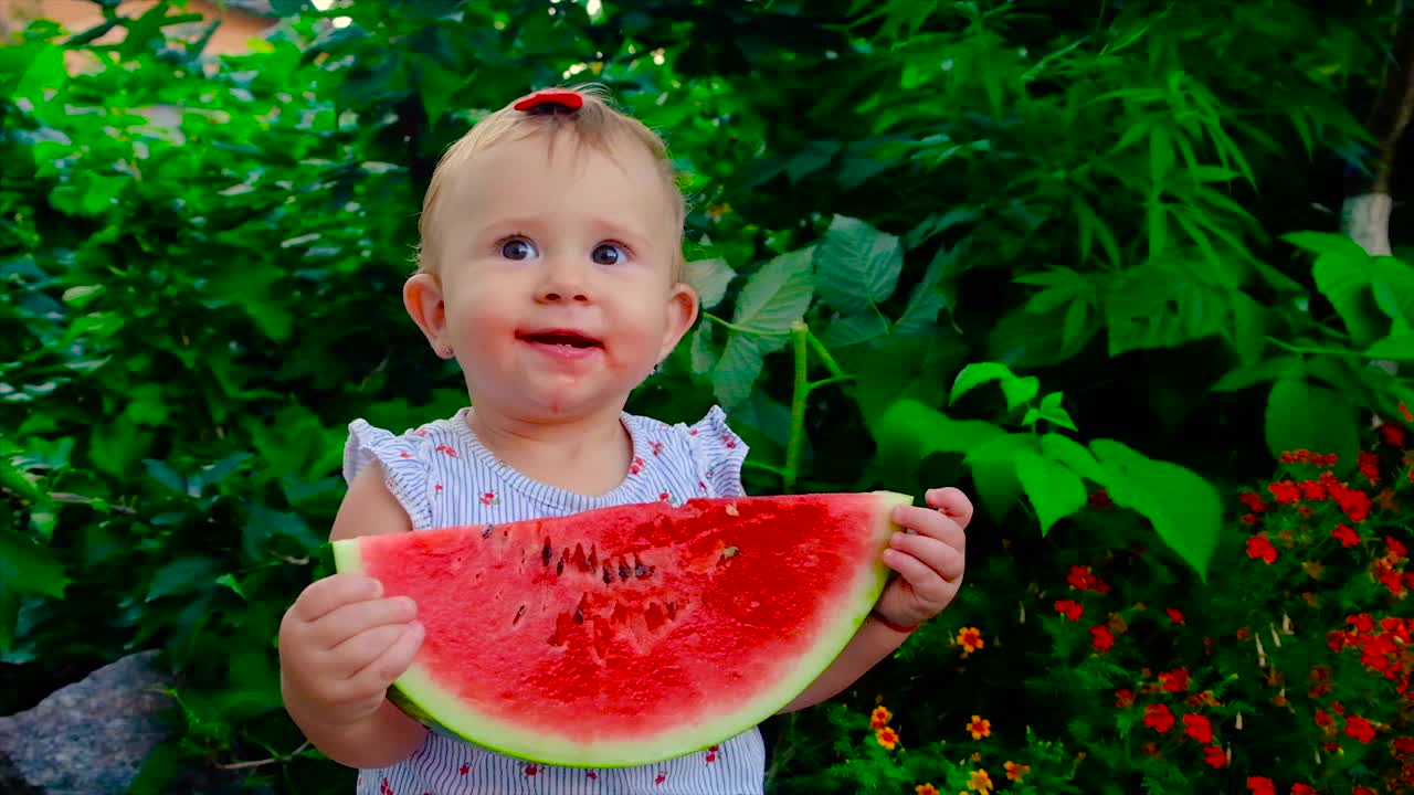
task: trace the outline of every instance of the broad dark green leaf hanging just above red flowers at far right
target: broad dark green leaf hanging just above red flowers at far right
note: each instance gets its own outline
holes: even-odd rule
[[[1282,378],[1267,396],[1267,450],[1275,458],[1290,450],[1335,453],[1342,467],[1360,447],[1359,413],[1345,395],[1305,381]]]

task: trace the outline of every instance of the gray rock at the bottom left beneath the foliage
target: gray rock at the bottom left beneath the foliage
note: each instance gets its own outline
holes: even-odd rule
[[[157,652],[134,654],[82,682],[55,690],[34,709],[0,717],[0,792],[6,795],[123,795],[151,750],[171,736],[171,678]],[[182,771],[188,792],[236,792],[223,771]],[[211,775],[218,774],[218,775]]]

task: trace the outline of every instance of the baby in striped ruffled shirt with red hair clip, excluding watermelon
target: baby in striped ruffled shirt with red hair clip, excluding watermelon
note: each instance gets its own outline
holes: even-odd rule
[[[348,495],[331,539],[740,497],[747,446],[720,407],[691,426],[625,412],[697,320],[683,282],[684,199],[662,140],[601,91],[544,91],[443,157],[420,222],[407,313],[465,375],[469,407],[402,434],[349,426]],[[963,579],[971,504],[953,488],[898,509],[898,573],[848,648],[783,712],[848,687]],[[385,697],[423,642],[416,605],[335,574],[280,627],[286,709],[361,795],[762,792],[758,730],[638,768],[529,764],[428,731]]]

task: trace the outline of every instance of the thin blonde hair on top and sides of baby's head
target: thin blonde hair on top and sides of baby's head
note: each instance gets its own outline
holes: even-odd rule
[[[438,208],[443,202],[443,192],[448,181],[467,167],[478,154],[485,153],[503,140],[520,140],[536,134],[546,134],[553,150],[559,133],[571,132],[578,146],[587,146],[594,151],[614,157],[614,146],[629,143],[641,146],[658,163],[663,187],[673,202],[673,226],[677,231],[677,245],[673,252],[673,280],[680,280],[683,274],[683,224],[687,218],[687,199],[677,184],[677,173],[667,157],[667,144],[658,133],[646,124],[628,116],[612,105],[609,91],[598,83],[583,83],[571,86],[584,98],[584,105],[578,110],[554,110],[550,113],[527,113],[516,110],[519,99],[506,103],[502,109],[491,113],[461,139],[447,147],[437,168],[433,171],[431,184],[423,197],[423,212],[417,221],[417,272],[436,273],[438,270],[437,252],[428,255],[428,240],[434,240],[433,231],[437,225]],[[431,262],[428,262],[431,260]]]

